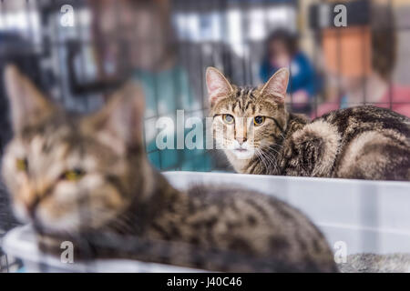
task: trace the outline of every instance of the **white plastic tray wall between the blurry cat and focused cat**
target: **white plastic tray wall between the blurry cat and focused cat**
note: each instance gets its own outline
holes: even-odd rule
[[[309,216],[331,246],[343,241],[348,254],[410,253],[410,182],[194,172],[167,176],[177,188],[236,185],[279,197]]]

